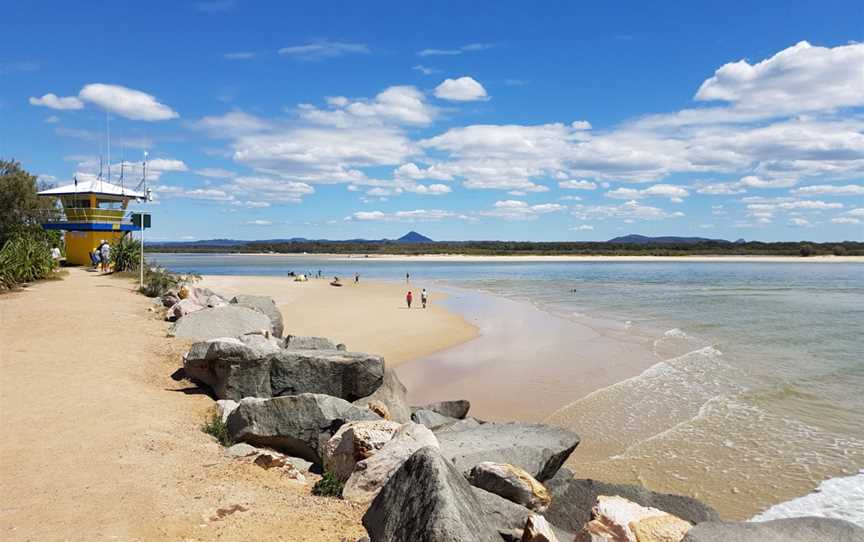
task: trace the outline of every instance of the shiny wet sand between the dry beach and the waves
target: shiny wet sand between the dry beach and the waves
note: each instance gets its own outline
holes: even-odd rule
[[[621,324],[565,320],[526,302],[449,292],[447,306],[469,315],[480,337],[401,365],[413,404],[464,398],[479,418],[541,421],[657,361],[649,341]]]

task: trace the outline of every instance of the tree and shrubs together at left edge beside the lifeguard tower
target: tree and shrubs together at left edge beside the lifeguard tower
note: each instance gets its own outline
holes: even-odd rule
[[[0,290],[51,276],[52,246],[59,232],[46,231],[40,218],[51,209],[37,196],[38,180],[11,160],[0,160]]]

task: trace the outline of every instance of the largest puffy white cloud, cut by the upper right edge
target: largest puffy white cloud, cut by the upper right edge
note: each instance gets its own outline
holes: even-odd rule
[[[828,48],[806,41],[756,64],[724,64],[696,92],[744,111],[795,113],[864,105],[864,44]]]

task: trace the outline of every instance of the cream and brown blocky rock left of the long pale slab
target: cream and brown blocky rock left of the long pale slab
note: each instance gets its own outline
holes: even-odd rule
[[[348,480],[358,461],[375,455],[402,424],[385,420],[348,422],[324,446],[324,470]]]

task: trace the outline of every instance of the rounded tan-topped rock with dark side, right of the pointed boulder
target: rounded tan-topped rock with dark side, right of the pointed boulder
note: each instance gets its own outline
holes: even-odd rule
[[[471,469],[471,485],[485,489],[531,510],[542,512],[552,497],[533,476],[507,463],[484,461]]]

